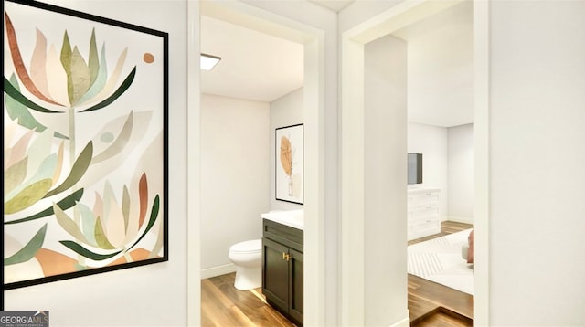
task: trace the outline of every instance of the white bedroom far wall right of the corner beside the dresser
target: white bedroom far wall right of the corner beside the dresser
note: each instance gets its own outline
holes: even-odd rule
[[[449,220],[473,224],[473,124],[450,127],[447,134]]]

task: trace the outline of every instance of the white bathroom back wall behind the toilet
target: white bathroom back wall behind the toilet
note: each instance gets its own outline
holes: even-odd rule
[[[203,270],[230,264],[231,245],[261,237],[260,216],[270,206],[269,124],[269,103],[201,95]]]

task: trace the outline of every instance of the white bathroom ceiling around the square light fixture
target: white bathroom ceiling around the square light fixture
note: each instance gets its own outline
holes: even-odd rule
[[[271,102],[303,87],[303,46],[201,16],[201,52],[221,58],[201,70],[201,91]]]

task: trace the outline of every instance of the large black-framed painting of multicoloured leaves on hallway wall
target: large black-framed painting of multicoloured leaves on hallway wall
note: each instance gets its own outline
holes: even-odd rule
[[[168,35],[4,15],[5,290],[168,260]]]

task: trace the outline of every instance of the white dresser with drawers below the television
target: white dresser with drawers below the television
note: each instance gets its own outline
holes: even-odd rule
[[[439,188],[408,190],[408,240],[441,233],[440,195]]]

